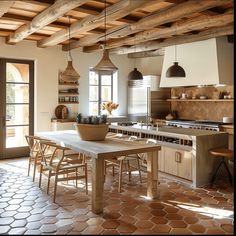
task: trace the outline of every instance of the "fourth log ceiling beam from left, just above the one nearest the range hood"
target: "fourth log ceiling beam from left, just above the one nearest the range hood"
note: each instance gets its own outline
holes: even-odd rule
[[[175,34],[183,34],[191,31],[199,31],[205,28],[220,27],[232,23],[234,21],[233,10],[227,11],[225,14],[216,16],[203,15],[184,22],[175,23],[171,27],[161,29],[151,29],[137,33],[133,37],[126,37],[113,42],[107,42],[106,48],[116,48],[124,45],[133,45],[146,42],[149,40],[168,38]]]

